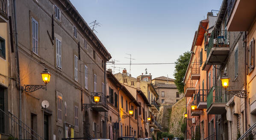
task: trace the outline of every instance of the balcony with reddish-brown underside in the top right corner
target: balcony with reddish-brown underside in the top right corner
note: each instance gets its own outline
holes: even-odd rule
[[[228,0],[227,30],[248,31],[256,17],[255,5],[256,0]]]

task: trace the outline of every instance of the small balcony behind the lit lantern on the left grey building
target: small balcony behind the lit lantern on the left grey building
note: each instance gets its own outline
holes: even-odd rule
[[[93,102],[91,108],[97,112],[108,112],[109,106],[107,105],[107,100],[106,100],[105,94],[101,93],[100,94],[100,102],[98,102],[98,103]]]

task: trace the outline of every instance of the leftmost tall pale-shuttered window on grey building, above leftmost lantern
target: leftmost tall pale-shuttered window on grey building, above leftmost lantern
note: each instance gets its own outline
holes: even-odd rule
[[[32,51],[38,55],[38,22],[32,18]]]

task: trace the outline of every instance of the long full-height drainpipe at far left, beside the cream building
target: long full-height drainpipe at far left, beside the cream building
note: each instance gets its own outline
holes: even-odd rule
[[[14,10],[14,24],[15,24],[15,48],[16,48],[16,67],[17,67],[17,79],[18,79],[18,90],[19,90],[19,124],[21,125],[21,81],[20,81],[20,63],[18,53],[18,32],[17,32],[17,20],[16,20],[16,0],[13,0]],[[21,126],[19,126],[19,139],[22,139]]]

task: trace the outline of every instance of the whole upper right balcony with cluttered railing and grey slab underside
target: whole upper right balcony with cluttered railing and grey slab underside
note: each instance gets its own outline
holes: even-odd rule
[[[230,52],[230,32],[221,30],[212,31],[206,47],[206,61],[203,70],[209,70],[211,65],[221,65],[226,61]]]

